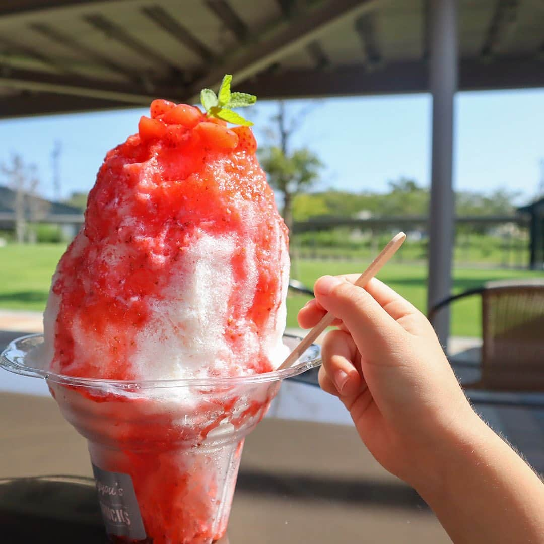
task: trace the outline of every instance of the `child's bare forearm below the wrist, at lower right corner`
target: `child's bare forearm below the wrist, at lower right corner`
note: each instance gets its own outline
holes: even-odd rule
[[[479,418],[418,487],[455,544],[544,543],[544,484]]]

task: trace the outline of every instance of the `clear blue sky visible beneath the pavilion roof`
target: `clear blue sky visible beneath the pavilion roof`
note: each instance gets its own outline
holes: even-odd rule
[[[306,101],[289,104],[293,112]],[[259,142],[275,104],[257,104]],[[137,131],[144,109],[44,116],[0,122],[0,163],[19,153],[38,166],[40,191],[52,196],[51,151],[60,140],[63,196],[92,187],[108,149]],[[294,145],[307,145],[326,164],[320,188],[387,190],[399,176],[430,181],[429,95],[329,98],[302,121]],[[489,193],[534,196],[544,159],[544,89],[463,92],[456,97],[454,184]],[[0,178],[0,184],[4,180]]]

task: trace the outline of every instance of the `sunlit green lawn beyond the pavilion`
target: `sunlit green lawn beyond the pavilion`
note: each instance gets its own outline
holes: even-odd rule
[[[55,266],[63,254],[62,244],[40,244],[34,246],[8,245],[0,248],[0,308],[16,310],[43,310]],[[323,274],[361,272],[366,261],[316,261],[300,260],[296,263],[296,274],[307,286]],[[524,270],[483,270],[456,268],[454,292],[476,287],[488,280],[536,277],[539,272]],[[424,265],[409,265],[392,262],[379,275],[401,295],[421,310],[426,305],[426,268]],[[308,300],[301,295],[289,295],[287,301],[288,326],[296,326],[296,313]],[[458,302],[453,307],[452,333],[456,336],[478,336],[480,334],[480,312],[477,298]]]

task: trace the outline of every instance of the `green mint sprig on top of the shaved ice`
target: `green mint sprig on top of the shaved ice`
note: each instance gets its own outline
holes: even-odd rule
[[[247,92],[231,92],[232,76],[226,74],[216,95],[212,89],[200,91],[200,101],[210,117],[222,119],[234,125],[251,127],[253,123],[244,119],[242,115],[233,112],[231,108],[246,108],[257,102],[255,95]]]

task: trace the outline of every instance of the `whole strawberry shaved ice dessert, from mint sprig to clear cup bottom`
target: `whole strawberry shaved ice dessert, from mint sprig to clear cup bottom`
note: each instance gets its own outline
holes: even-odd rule
[[[230,110],[255,100],[229,76],[202,97],[207,113],[153,101],[108,152],[44,316],[47,368],[101,380],[50,388],[89,440],[115,542],[225,533],[243,438],[279,388],[228,379],[287,355],[287,231],[249,123]]]

